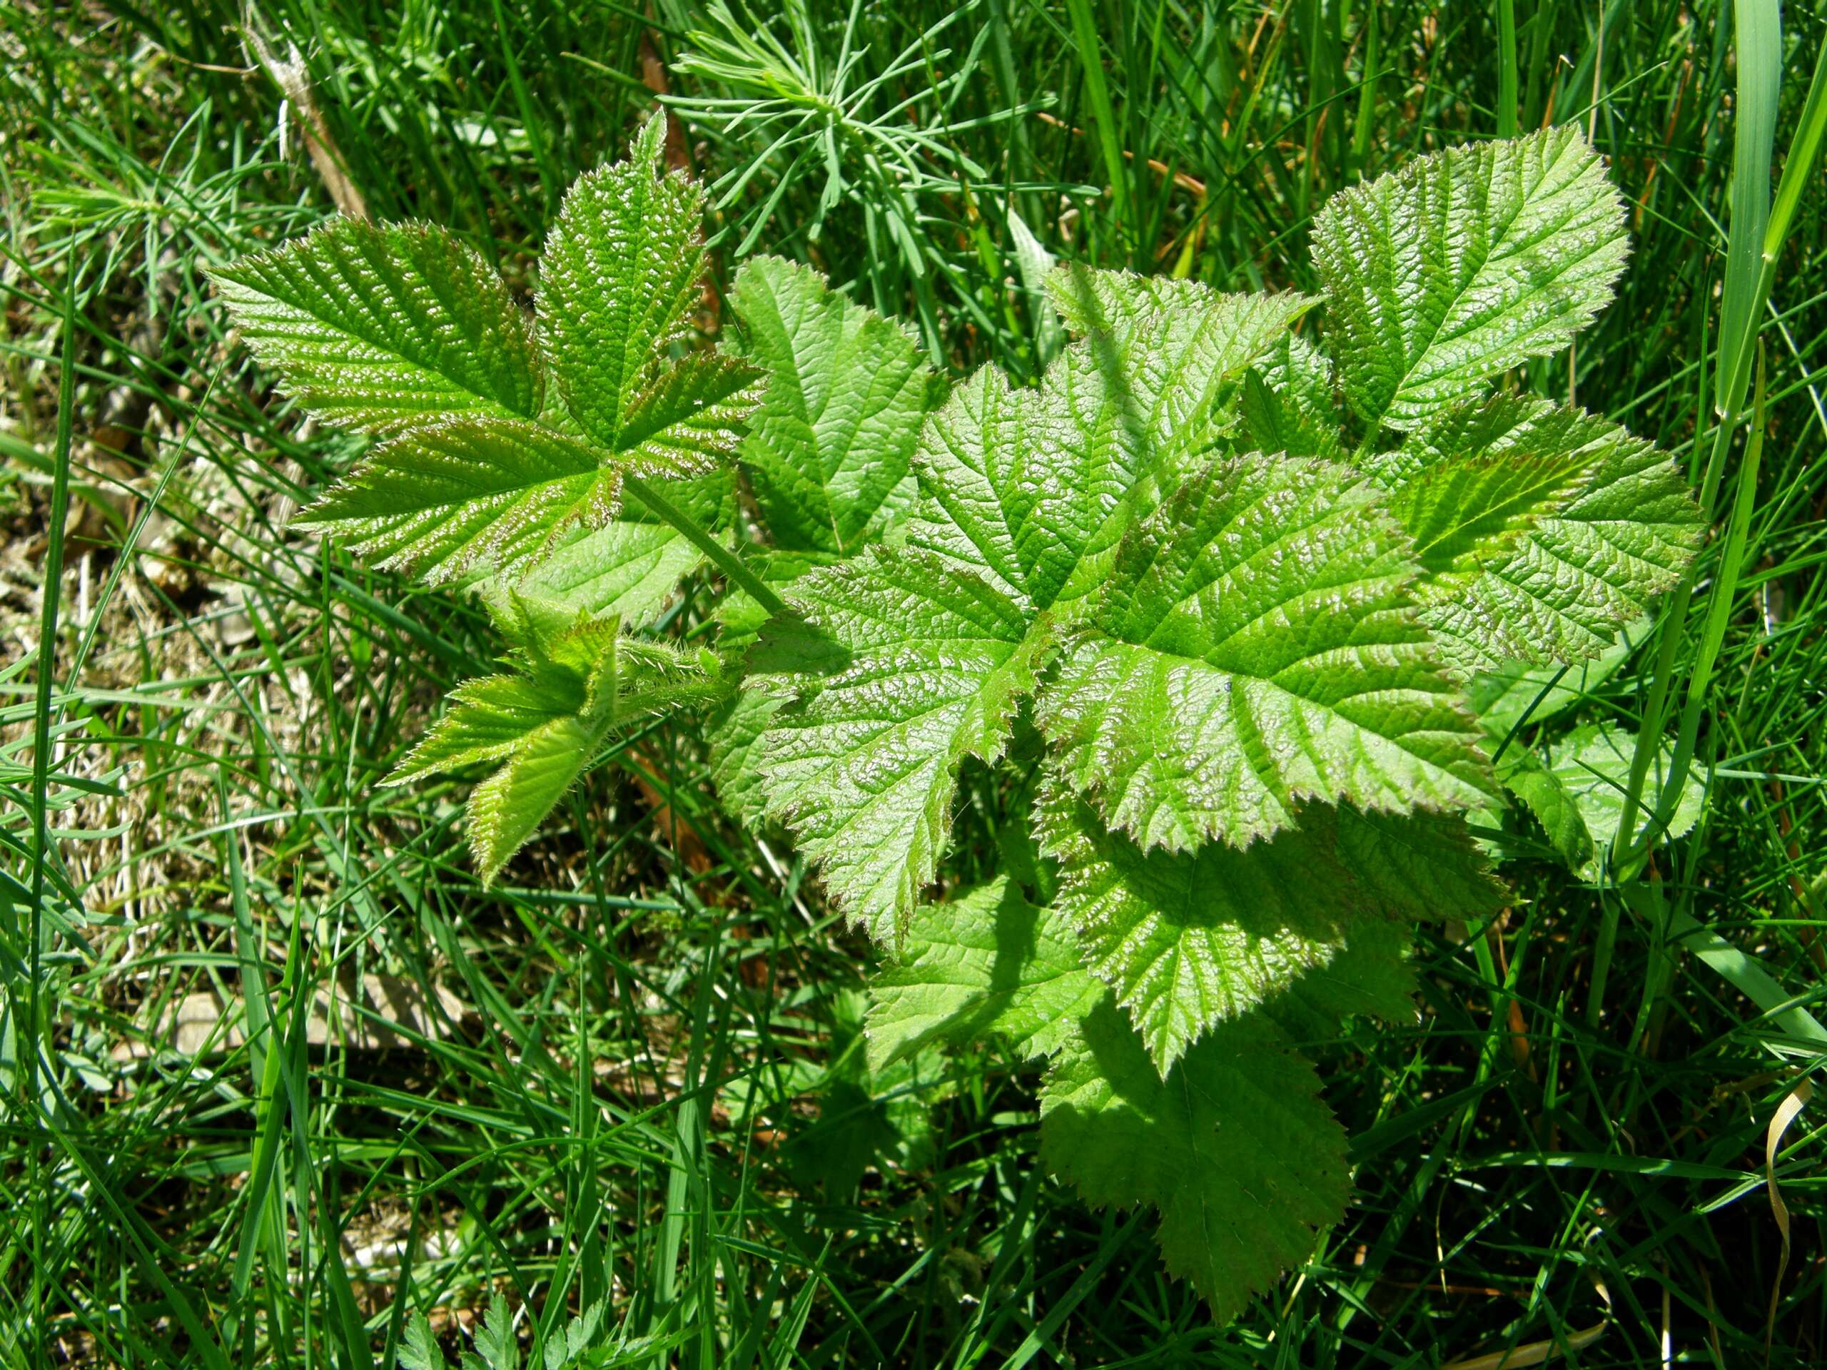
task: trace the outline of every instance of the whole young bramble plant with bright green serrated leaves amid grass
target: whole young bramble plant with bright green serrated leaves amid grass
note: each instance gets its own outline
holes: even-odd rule
[[[468,577],[510,645],[393,778],[497,767],[491,879],[627,722],[703,711],[731,815],[882,950],[870,1069],[1040,1061],[1051,1169],[1155,1206],[1228,1317],[1348,1196],[1295,1043],[1412,1016],[1414,921],[1504,901],[1509,791],[1569,864],[1604,846],[1630,738],[1511,743],[1560,669],[1622,659],[1699,511],[1650,444],[1500,378],[1604,307],[1619,197],[1568,128],[1421,157],[1319,214],[1323,300],[1061,269],[1040,384],[945,398],[778,259],[736,276],[738,347],[683,347],[703,195],[661,146],[656,117],[566,197],[537,325],[431,227],[219,274],[290,395],[378,438],[309,522]],[[705,563],[694,656],[647,625]],[[961,789],[1001,831],[976,888]]]

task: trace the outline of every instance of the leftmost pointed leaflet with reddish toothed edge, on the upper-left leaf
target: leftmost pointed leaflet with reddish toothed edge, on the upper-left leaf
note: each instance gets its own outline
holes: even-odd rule
[[[333,219],[210,272],[254,354],[314,415],[365,433],[435,418],[533,418],[526,316],[488,263],[435,225]]]

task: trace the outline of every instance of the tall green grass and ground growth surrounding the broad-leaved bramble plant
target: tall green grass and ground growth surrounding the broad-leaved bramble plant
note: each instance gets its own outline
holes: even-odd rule
[[[1769,1136],[1827,997],[1827,225],[1789,174],[1823,26],[1789,11],[0,9],[0,1363],[391,1366],[411,1312],[455,1350],[491,1299],[535,1355],[601,1304],[627,1365],[1820,1363],[1818,1105]],[[376,785],[495,645],[287,532],[354,448],[203,269],[353,190],[526,287],[656,99],[720,274],[811,261],[957,374],[1051,356],[1047,254],[1308,287],[1312,212],[1416,152],[1580,121],[1611,159],[1632,269],[1531,380],[1725,524],[1577,707],[1672,736],[1708,813],[1644,849],[1639,796],[1602,882],[1527,864],[1425,937],[1416,1025],[1328,1058],[1357,1204],[1231,1328],[1043,1176],[1010,1061],[861,1072],[868,952],[696,738],[491,890],[459,789]],[[959,829],[996,851],[992,809]]]

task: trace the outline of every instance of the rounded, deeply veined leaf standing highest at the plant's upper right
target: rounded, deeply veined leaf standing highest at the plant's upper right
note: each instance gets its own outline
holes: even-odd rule
[[[1449,148],[1314,219],[1332,354],[1368,437],[1416,427],[1611,300],[1624,203],[1573,126]]]

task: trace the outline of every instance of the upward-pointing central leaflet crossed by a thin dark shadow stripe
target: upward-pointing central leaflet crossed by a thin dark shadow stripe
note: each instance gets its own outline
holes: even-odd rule
[[[915,453],[908,543],[1034,608],[1091,594],[1124,528],[1231,426],[1235,376],[1312,303],[1200,290],[1189,316],[1140,314],[1071,343],[1038,389],[994,367],[961,384]]]

